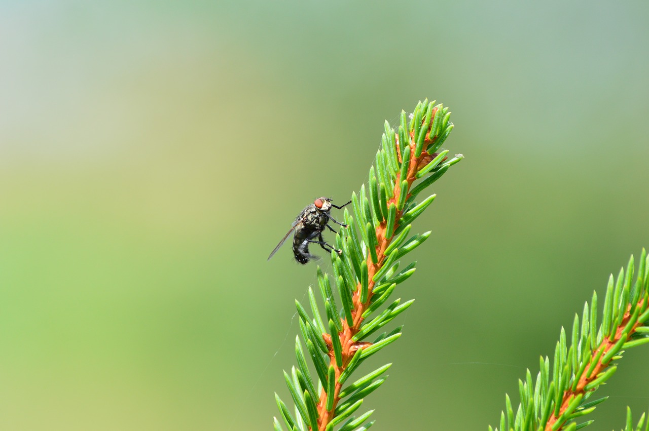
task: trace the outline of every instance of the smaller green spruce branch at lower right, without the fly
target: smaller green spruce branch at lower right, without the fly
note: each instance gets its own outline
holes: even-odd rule
[[[552,369],[550,359],[541,357],[535,384],[527,370],[525,381],[519,380],[520,404],[516,414],[506,395],[506,412],[501,413],[500,428],[496,431],[572,431],[593,423],[578,421],[607,397],[585,401],[615,374],[617,361],[626,349],[649,343],[649,258],[644,249],[635,283],[634,274],[633,256],[626,272],[620,269],[617,279],[611,274],[600,325],[597,293],[593,292],[591,304],[585,303],[583,307],[581,320],[578,314],[574,317],[570,346],[566,331],[561,328]],[[644,415],[635,429],[640,431],[643,421]],[[626,429],[634,429],[630,410]],[[489,430],[493,428],[489,426]]]

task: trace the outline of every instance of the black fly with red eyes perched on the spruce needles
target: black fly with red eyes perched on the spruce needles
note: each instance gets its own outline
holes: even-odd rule
[[[329,226],[329,220],[332,220],[332,222],[339,224],[340,226],[347,227],[346,224],[338,222],[330,216],[329,211],[331,211],[331,207],[341,209],[345,205],[349,205],[352,201],[340,206],[332,204],[331,201],[330,198],[317,198],[313,201],[313,204],[302,209],[300,215],[295,218],[295,221],[291,225],[291,229],[289,229],[286,235],[284,235],[284,238],[282,238],[280,243],[277,244],[275,250],[273,250],[271,255],[268,257],[268,260],[273,257],[276,251],[279,250],[282,244],[284,244],[284,241],[286,241],[293,231],[295,231],[295,235],[293,235],[293,255],[295,256],[295,260],[301,264],[306,264],[310,259],[317,259],[317,256],[309,253],[309,243],[320,244],[320,246],[328,253],[331,253],[332,250],[335,250],[338,254],[342,253],[341,250],[336,250],[324,241],[323,231],[324,227],[328,227],[330,231],[334,233],[336,232],[331,226]],[[315,237],[317,237],[318,240],[315,240]]]

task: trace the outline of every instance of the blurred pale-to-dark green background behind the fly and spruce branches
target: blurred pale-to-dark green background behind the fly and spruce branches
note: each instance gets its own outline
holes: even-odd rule
[[[415,224],[417,301],[365,406],[376,430],[495,425],[649,246],[648,22],[643,1],[1,2],[0,429],[271,429],[315,264],[266,258],[424,97],[466,159]],[[646,411],[647,355],[593,428]]]

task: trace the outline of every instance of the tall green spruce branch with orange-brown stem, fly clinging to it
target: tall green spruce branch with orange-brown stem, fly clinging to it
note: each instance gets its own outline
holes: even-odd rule
[[[415,272],[416,262],[412,262],[397,273],[398,259],[431,235],[428,231],[408,238],[411,223],[435,199],[432,194],[416,202],[417,195],[463,158],[458,154],[448,159],[448,150],[437,152],[453,129],[449,117],[448,108],[424,100],[417,104],[410,121],[406,112],[401,112],[397,130],[386,121],[381,148],[369,170],[367,187],[363,184],[358,194],[352,193],[353,215],[345,209],[346,226],[336,234],[336,248],[342,252],[331,253],[339,301],[334,297],[329,275],[320,268],[317,268],[317,278],[324,303],[324,321],[311,289],[309,301],[313,318],[296,301],[302,340],[318,380],[317,385],[314,384],[302,343],[297,338],[298,366],[291,369],[290,375],[284,372],[295,415],[291,415],[286,404],[275,395],[289,430],[332,431],[334,427],[339,427],[339,431],[366,430],[374,423],[365,423],[373,410],[358,417],[354,413],[364,397],[385,382],[384,373],[391,364],[343,386],[366,358],[401,336],[401,327],[397,327],[368,341],[369,336],[414,301],[402,303],[398,298],[389,303],[397,285]],[[417,185],[415,181],[419,181]],[[275,430],[284,429],[276,418],[273,425]]]

